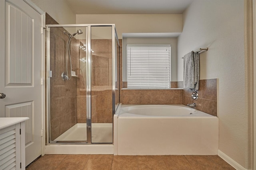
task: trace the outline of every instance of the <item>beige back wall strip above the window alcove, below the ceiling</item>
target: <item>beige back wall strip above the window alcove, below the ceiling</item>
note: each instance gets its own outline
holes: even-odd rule
[[[114,23],[119,39],[122,33],[182,32],[182,14],[86,14],[76,15],[76,23]]]

